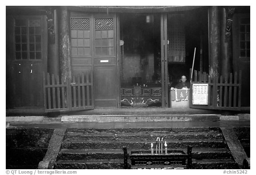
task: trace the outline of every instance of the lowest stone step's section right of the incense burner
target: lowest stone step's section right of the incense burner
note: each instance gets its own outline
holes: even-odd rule
[[[240,169],[233,159],[192,159],[192,169]]]

